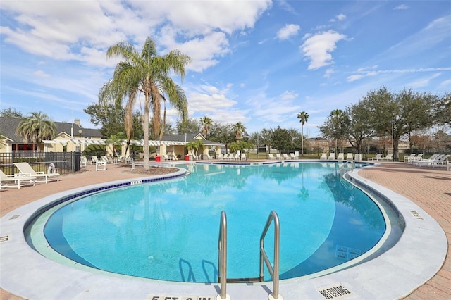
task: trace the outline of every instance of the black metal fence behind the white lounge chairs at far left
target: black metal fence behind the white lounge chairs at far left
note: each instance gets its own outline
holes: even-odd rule
[[[18,173],[14,163],[29,163],[36,172],[49,172],[49,166],[54,164],[56,172],[68,174],[80,170],[80,152],[38,152],[13,151],[0,153],[0,170],[5,174]]]

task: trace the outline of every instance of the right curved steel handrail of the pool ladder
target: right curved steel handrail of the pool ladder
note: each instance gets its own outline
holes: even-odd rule
[[[264,238],[266,236],[266,232],[268,232],[269,226],[271,222],[274,221],[274,268],[271,266],[271,263],[268,260],[268,256],[266,255],[266,251],[264,249]],[[260,281],[263,282],[264,277],[264,265],[263,261],[266,263],[266,267],[268,268],[269,274],[273,279],[273,298],[278,299],[279,297],[279,254],[280,254],[280,225],[279,225],[279,217],[276,211],[271,211],[268,216],[268,220],[266,221],[266,225],[264,227],[263,232],[260,237]]]

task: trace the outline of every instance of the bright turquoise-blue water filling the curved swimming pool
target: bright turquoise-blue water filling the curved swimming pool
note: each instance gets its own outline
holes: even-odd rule
[[[191,174],[62,206],[44,227],[47,242],[73,261],[113,273],[216,282],[221,211],[231,278],[258,277],[259,238],[271,211],[280,219],[280,279],[346,263],[385,232],[378,206],[340,182],[338,163],[183,167]],[[265,247],[271,258],[272,226]]]

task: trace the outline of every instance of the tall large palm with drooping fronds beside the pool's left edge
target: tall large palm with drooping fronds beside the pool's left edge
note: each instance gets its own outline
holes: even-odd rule
[[[164,56],[156,53],[156,44],[147,37],[141,53],[128,42],[119,42],[106,51],[108,58],[123,58],[116,65],[113,78],[101,87],[99,103],[109,101],[128,101],[126,108],[132,110],[140,95],[144,95],[142,129],[144,132],[144,169],[149,170],[149,117],[152,108],[152,137],[163,136],[164,124],[161,124],[161,101],[168,101],[180,116],[187,117],[187,99],[183,89],[173,82],[169,73],[185,77],[185,65],[190,57],[178,50],[170,51]],[[140,101],[141,104],[141,101]],[[128,116],[132,115],[130,112]],[[130,120],[130,119],[128,119]],[[163,120],[164,122],[164,120]],[[128,124],[127,120],[125,122]],[[129,122],[130,123],[130,122]],[[126,128],[130,132],[130,127]]]

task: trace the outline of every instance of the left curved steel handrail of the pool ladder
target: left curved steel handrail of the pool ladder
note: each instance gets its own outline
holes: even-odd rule
[[[221,211],[218,238],[218,281],[221,282],[221,299],[227,298],[227,217],[226,212]]]

